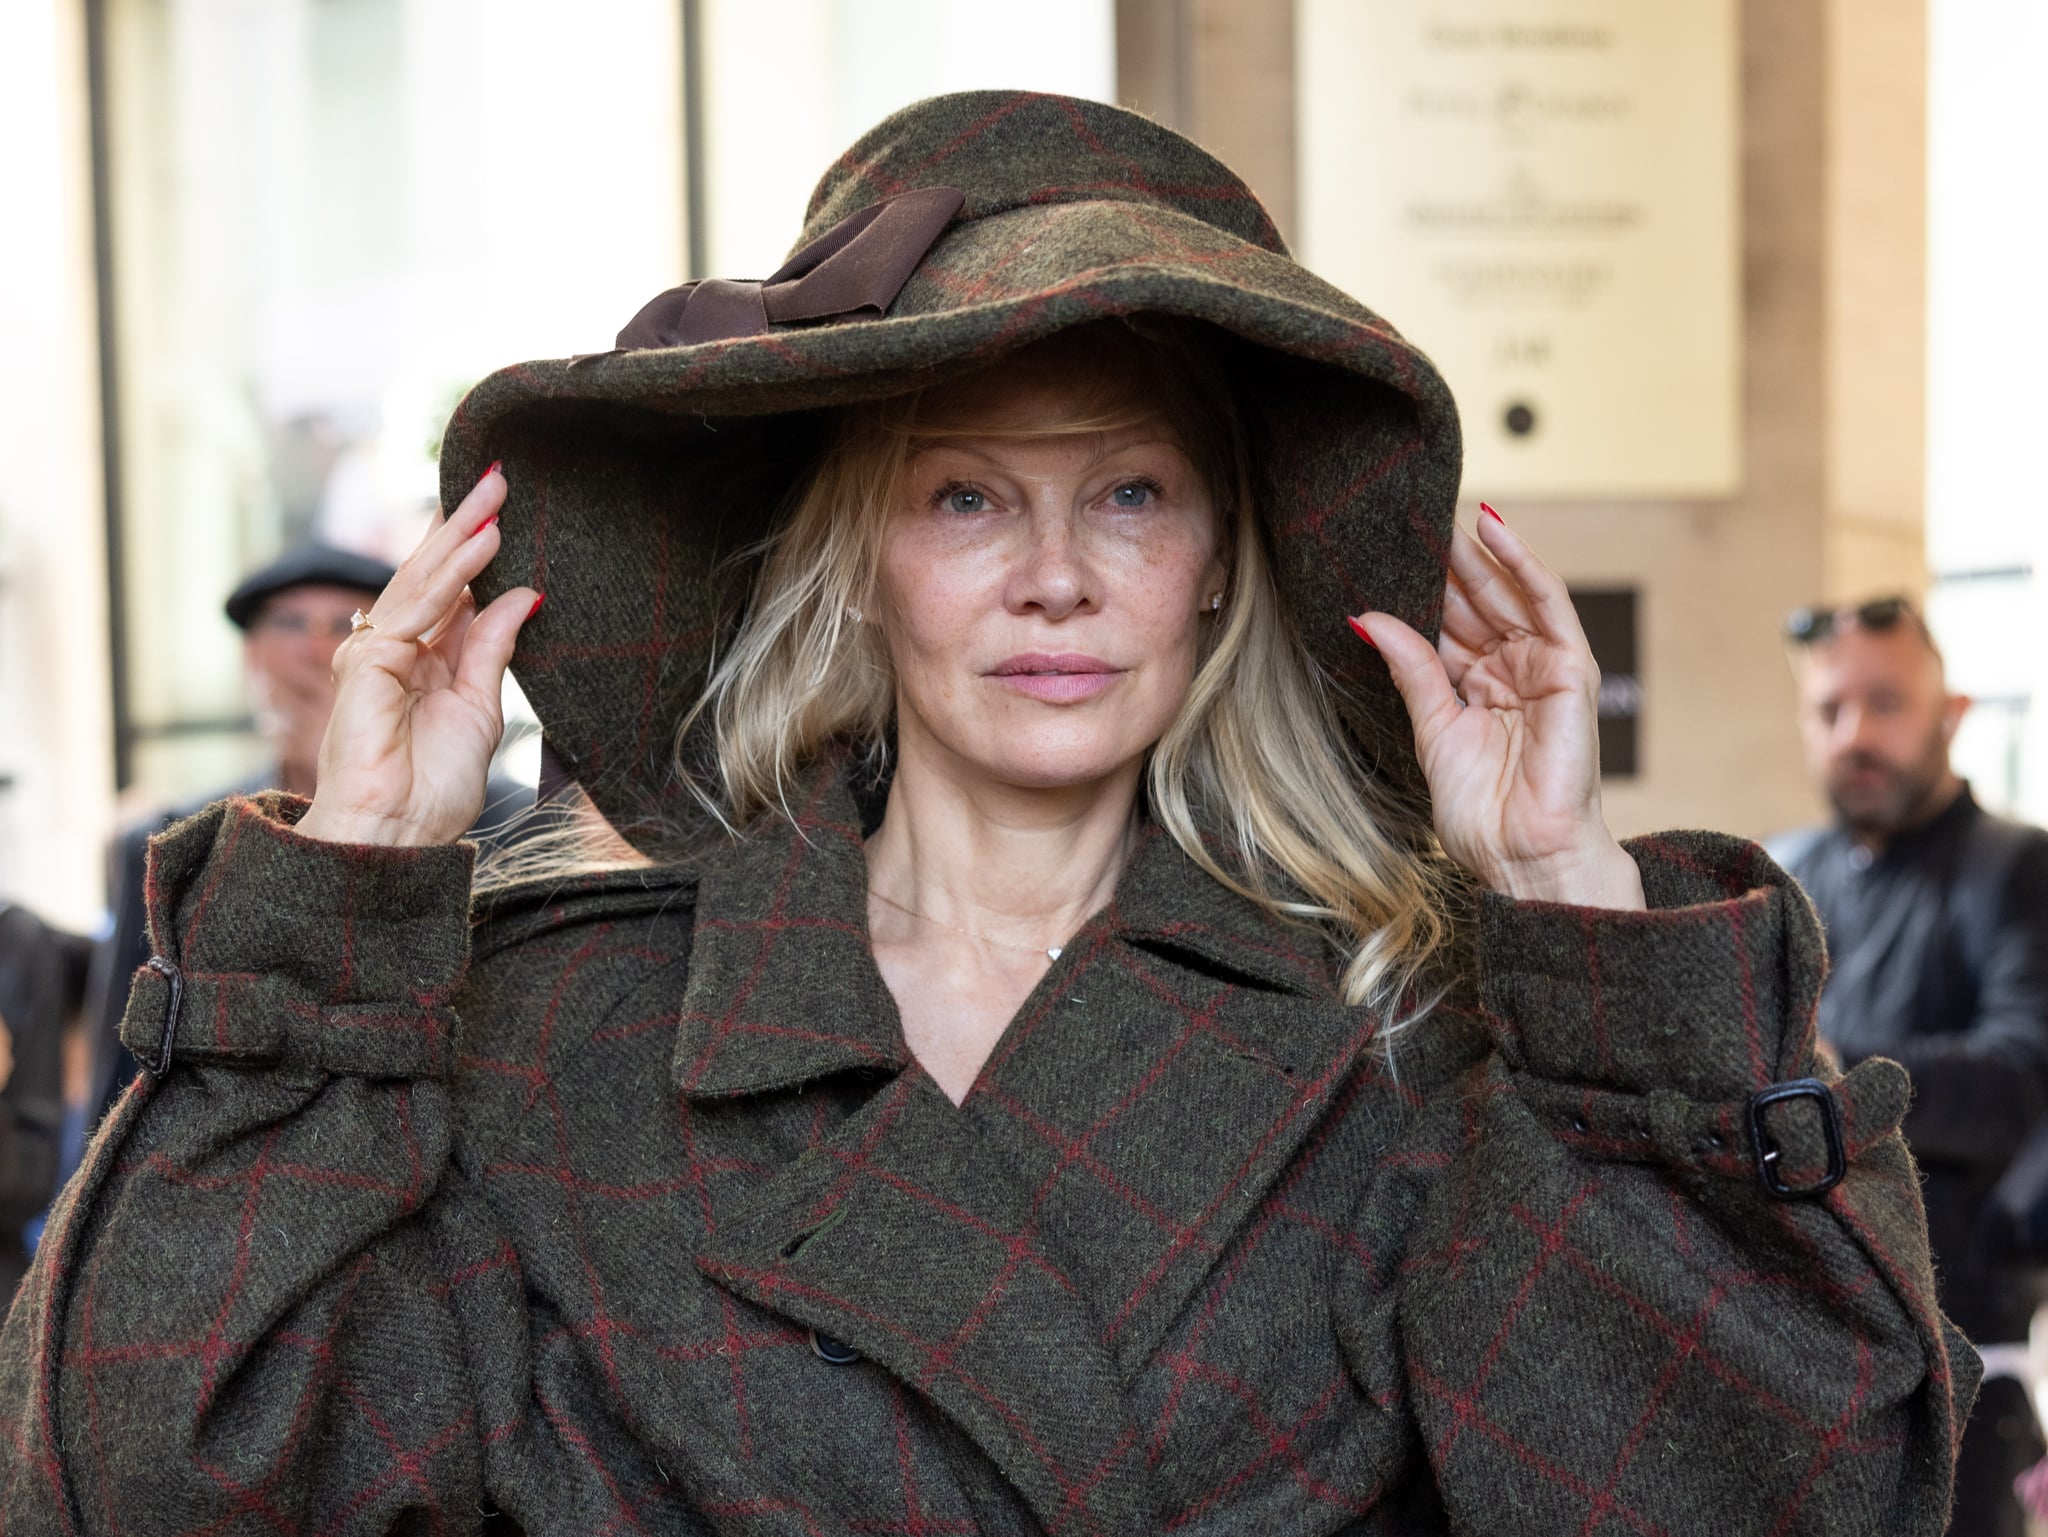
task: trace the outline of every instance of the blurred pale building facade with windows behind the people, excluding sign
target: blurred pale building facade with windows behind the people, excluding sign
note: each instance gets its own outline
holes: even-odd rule
[[[1417,25],[1446,4],[1391,0]],[[1739,484],[1503,508],[1575,586],[1636,594],[1638,762],[1610,814],[1749,834],[1808,820],[1780,617],[1903,590],[1985,701],[1958,744],[1980,793],[2048,816],[2048,664],[2025,643],[2048,516],[2021,484],[2048,320],[2019,170],[2030,133],[2042,148],[2023,109],[2048,25],[2032,0],[1720,6]],[[16,232],[0,254],[0,891],[84,924],[117,807],[252,766],[219,619],[240,570],[307,533],[403,553],[469,383],[602,348],[684,277],[772,268],[819,168],[893,107],[973,86],[1122,100],[1214,150],[1294,234],[1313,213],[1303,148],[1327,131],[1305,109],[1294,14],[0,8]]]

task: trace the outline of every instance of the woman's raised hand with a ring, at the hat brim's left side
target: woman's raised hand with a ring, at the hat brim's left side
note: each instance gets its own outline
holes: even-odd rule
[[[504,734],[498,693],[541,594],[516,586],[477,611],[469,580],[498,553],[506,482],[492,465],[434,521],[334,654],[334,715],[299,832],[326,842],[455,842],[483,809]]]

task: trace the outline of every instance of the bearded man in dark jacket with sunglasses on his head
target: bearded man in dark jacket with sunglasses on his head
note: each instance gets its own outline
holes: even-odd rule
[[[2028,1338],[2044,1297],[2015,1252],[2015,1156],[2048,1111],[2048,832],[1985,812],[1950,766],[1970,701],[1907,598],[1786,619],[1806,764],[1835,820],[1772,848],[1812,896],[1831,971],[1821,1037],[1845,1066],[1913,1074],[1905,1135],[1925,1176],[1944,1312],[1976,1344]],[[2036,1195],[2048,1203],[2048,1180]],[[2013,1478],[2042,1455],[2025,1396],[1985,1385],[1950,1531],[2021,1537]]]

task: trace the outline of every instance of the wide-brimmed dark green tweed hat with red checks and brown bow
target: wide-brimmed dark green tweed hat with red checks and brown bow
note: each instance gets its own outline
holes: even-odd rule
[[[672,289],[614,350],[502,369],[457,408],[444,504],[494,459],[508,482],[477,598],[547,594],[512,666],[549,758],[629,838],[688,822],[676,730],[743,611],[733,557],[815,463],[827,408],[1141,311],[1221,332],[1282,603],[1362,760],[1413,789],[1405,711],[1346,615],[1436,635],[1460,457],[1442,377],[1188,139],[987,90],[905,107],[840,156],[766,283]]]

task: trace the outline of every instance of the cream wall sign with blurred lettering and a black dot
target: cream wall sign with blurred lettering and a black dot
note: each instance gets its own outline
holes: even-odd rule
[[[1450,379],[1466,496],[1741,475],[1735,0],[1298,0],[1300,254]]]

